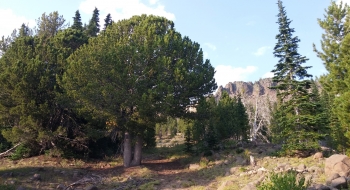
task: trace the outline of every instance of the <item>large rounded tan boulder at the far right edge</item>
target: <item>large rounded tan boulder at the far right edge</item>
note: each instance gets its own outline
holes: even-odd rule
[[[325,174],[330,177],[334,173],[347,177],[350,172],[350,158],[346,155],[334,154],[326,159]]]

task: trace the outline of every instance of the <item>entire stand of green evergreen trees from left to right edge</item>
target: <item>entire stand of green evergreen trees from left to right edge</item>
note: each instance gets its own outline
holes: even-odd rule
[[[0,151],[16,146],[12,159],[122,154],[129,167],[156,137],[182,133],[184,151],[209,153],[255,141],[264,129],[281,155],[320,144],[350,154],[349,6],[332,1],[318,20],[324,34],[314,51],[328,74],[314,79],[280,0],[278,7],[277,102],[259,127],[250,122],[257,108],[240,95],[212,95],[214,67],[166,18],[108,14],[102,24],[95,8],[87,24],[79,11],[71,26],[58,12],[42,14],[35,28],[22,24],[0,41]]]

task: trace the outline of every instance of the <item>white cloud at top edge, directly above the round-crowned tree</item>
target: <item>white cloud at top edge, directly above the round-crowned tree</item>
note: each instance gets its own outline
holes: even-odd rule
[[[154,5],[158,1],[150,0],[150,4]],[[167,12],[164,6],[157,3],[155,6],[147,6],[140,0],[85,0],[80,3],[79,10],[86,14],[92,14],[95,7],[100,10],[100,22],[103,23],[103,19],[108,13],[111,14],[114,21],[128,19],[134,15],[157,15],[163,16],[169,20],[175,20],[173,13]]]

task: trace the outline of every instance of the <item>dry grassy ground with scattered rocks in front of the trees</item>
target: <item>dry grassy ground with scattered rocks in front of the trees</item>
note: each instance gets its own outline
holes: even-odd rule
[[[189,155],[183,145],[152,148],[144,151],[141,166],[124,168],[121,157],[103,160],[68,160],[45,155],[12,161],[0,159],[0,189],[241,189],[249,182],[269,175],[279,165],[324,168],[324,158],[273,157],[270,145],[225,149],[211,156]],[[247,165],[254,156],[256,166]],[[267,171],[257,171],[264,168]],[[324,183],[322,172],[310,175]]]

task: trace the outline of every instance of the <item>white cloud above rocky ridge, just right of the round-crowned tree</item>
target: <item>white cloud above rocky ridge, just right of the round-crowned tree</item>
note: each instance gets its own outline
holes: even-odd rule
[[[215,67],[215,80],[218,86],[225,86],[229,82],[244,81],[248,76],[254,73],[258,68],[255,66],[232,67],[230,65],[219,65]]]

